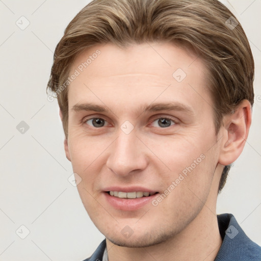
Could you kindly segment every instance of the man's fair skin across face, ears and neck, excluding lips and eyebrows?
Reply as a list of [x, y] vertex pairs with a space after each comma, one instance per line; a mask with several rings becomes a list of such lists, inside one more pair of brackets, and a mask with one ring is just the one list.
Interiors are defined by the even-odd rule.
[[[99, 49], [101, 54], [70, 84], [68, 139], [64, 146], [83, 204], [106, 237], [109, 260], [214, 260], [222, 243], [216, 217], [224, 165], [245, 145], [251, 107], [243, 100], [225, 116], [216, 135], [207, 69], [192, 51], [169, 42], [95, 45], [79, 55], [71, 73]], [[177, 82], [173, 72], [187, 76]], [[74, 111], [92, 102], [106, 112]], [[178, 102], [188, 111], [148, 112], [142, 106]], [[60, 112], [62, 119], [62, 113]], [[159, 119], [171, 117], [162, 127]], [[92, 118], [105, 120], [95, 127]], [[89, 120], [91, 119], [91, 120]], [[134, 129], [126, 134], [128, 120]], [[143, 186], [160, 194], [200, 155], [204, 159], [158, 205], [134, 211], [108, 204], [104, 188]], [[121, 230], [133, 231], [126, 238]]]

